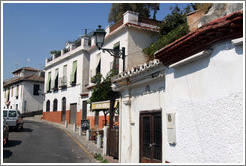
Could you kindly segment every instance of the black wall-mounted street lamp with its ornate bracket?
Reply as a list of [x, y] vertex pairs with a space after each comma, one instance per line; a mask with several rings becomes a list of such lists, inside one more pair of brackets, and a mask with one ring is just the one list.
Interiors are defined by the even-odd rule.
[[98, 29], [96, 29], [96, 31], [93, 33], [98, 50], [102, 50], [103, 52], [107, 51], [111, 56], [115, 58], [122, 58], [123, 71], [125, 71], [125, 47], [122, 47], [122, 49], [102, 48], [105, 35], [106, 35], [106, 32], [104, 31], [104, 29], [101, 29], [101, 25], [99, 25]]

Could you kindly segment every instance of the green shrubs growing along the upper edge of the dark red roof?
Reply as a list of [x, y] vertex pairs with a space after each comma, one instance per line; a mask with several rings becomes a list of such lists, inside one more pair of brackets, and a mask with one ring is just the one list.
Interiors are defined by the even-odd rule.
[[187, 23], [184, 23], [174, 30], [170, 31], [167, 35], [159, 38], [155, 43], [152, 43], [149, 47], [144, 49], [144, 53], [148, 55], [149, 60], [154, 59], [154, 53], [166, 45], [174, 42], [189, 32]]

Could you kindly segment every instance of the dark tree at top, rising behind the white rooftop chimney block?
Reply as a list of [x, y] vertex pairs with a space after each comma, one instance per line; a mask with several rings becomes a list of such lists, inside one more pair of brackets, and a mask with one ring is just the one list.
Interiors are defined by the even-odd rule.
[[158, 3], [113, 3], [108, 16], [109, 23], [116, 23], [122, 18], [126, 11], [133, 11], [139, 13], [139, 16], [149, 18], [150, 10], [154, 10], [153, 17], [155, 18], [157, 10], [159, 10]]

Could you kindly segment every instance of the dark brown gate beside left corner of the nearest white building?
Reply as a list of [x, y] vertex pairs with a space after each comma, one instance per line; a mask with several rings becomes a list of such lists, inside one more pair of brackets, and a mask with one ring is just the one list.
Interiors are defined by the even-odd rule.
[[111, 132], [108, 131], [107, 141], [108, 141], [107, 142], [108, 155], [112, 156], [114, 159], [118, 159], [119, 158], [119, 129], [111, 129]]

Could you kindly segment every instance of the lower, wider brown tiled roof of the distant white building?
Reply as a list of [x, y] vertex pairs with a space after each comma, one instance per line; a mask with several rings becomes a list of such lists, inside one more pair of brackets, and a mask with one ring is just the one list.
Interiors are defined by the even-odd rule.
[[11, 79], [10, 81], [4, 81], [3, 87], [21, 82], [21, 81], [33, 81], [33, 82], [44, 82], [44, 78], [35, 74], [27, 75], [24, 77], [17, 77], [16, 79]]

